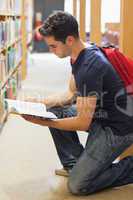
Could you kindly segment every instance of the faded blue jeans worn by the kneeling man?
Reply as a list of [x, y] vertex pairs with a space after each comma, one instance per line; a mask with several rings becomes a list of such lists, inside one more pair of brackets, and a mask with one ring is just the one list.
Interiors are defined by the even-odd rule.
[[[58, 118], [76, 115], [76, 108], [51, 108]], [[133, 183], [133, 156], [112, 163], [133, 143], [133, 134], [114, 135], [110, 127], [94, 122], [89, 128], [85, 148], [75, 131], [49, 128], [58, 156], [65, 168], [71, 168], [68, 188], [75, 195], [88, 195], [109, 187]]]

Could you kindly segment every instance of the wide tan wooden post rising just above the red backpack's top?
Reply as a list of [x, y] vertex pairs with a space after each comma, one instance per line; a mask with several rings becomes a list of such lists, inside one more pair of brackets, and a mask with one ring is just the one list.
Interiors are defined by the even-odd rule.
[[90, 40], [101, 44], [101, 0], [91, 0]]

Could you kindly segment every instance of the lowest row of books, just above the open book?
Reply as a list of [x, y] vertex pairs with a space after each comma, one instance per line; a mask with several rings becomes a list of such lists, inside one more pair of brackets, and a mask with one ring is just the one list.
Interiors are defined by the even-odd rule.
[[21, 86], [21, 69], [12, 76], [7, 81], [5, 87], [0, 91], [0, 119], [7, 111], [7, 104], [5, 103], [5, 98], [16, 99], [17, 91]]

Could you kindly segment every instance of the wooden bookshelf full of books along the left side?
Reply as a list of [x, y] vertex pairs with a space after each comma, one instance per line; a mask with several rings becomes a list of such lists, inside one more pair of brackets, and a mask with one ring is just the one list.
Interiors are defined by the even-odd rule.
[[0, 129], [7, 118], [4, 98], [16, 98], [20, 82], [26, 78], [27, 45], [32, 40], [27, 20], [32, 20], [32, 12], [33, 0], [0, 1]]

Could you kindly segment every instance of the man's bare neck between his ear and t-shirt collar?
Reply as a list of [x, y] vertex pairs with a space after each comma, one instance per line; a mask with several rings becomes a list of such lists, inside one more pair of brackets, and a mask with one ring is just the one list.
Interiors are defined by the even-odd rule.
[[75, 45], [73, 46], [72, 54], [71, 54], [71, 59], [73, 62], [77, 59], [80, 52], [85, 48], [86, 48], [86, 44], [82, 40], [78, 40], [75, 42]]

